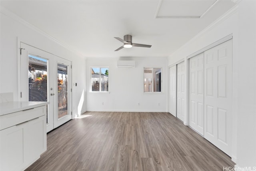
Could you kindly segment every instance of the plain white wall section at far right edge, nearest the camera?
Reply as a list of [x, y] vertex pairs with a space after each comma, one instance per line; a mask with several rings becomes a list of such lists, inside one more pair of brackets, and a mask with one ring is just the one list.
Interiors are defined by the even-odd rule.
[[241, 1], [238, 12], [237, 165], [256, 168], [256, 1]]

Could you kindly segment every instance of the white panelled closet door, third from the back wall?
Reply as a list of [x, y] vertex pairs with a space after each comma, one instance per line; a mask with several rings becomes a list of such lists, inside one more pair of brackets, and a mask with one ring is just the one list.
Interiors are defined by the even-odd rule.
[[204, 53], [189, 59], [189, 125], [204, 135]]

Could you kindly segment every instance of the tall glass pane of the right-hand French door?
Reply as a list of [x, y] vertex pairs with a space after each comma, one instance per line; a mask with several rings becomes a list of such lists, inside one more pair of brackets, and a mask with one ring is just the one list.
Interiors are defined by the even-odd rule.
[[68, 115], [68, 66], [58, 64], [58, 118]]

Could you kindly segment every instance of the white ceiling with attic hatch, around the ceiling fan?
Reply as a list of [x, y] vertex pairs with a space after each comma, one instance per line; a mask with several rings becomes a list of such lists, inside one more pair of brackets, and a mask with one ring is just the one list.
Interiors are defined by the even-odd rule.
[[[167, 57], [235, 5], [231, 0], [1, 0], [0, 3], [89, 58]], [[198, 18], [182, 18], [195, 16]], [[132, 35], [132, 42], [152, 47], [114, 52], [122, 46], [114, 37], [123, 39], [126, 34]]]

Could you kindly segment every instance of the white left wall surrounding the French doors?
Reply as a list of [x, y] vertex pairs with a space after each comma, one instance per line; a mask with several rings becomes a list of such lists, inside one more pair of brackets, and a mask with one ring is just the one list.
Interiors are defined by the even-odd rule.
[[80, 102], [81, 96], [85, 100], [85, 59], [2, 7], [0, 19], [0, 93], [13, 93], [14, 101], [18, 100], [18, 37], [21, 42], [72, 61], [72, 79], [78, 83], [73, 87], [73, 113], [85, 111], [85, 101]]

